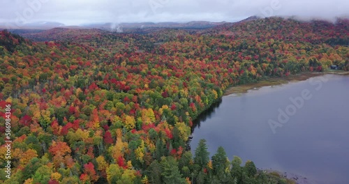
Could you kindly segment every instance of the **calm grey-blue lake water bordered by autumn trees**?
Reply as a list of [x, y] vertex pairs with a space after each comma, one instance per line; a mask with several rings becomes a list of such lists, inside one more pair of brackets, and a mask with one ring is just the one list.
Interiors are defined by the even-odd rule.
[[225, 96], [193, 130], [193, 153], [200, 139], [211, 155], [223, 146], [230, 160], [237, 155], [309, 183], [349, 183], [349, 76]]

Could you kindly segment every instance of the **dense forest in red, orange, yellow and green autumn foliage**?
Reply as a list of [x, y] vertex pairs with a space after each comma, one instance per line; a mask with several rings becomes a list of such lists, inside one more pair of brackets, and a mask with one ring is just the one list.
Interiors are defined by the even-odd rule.
[[223, 148], [209, 158], [205, 140], [192, 155], [193, 121], [230, 86], [349, 70], [348, 20], [22, 36], [0, 31], [1, 183], [290, 183]]

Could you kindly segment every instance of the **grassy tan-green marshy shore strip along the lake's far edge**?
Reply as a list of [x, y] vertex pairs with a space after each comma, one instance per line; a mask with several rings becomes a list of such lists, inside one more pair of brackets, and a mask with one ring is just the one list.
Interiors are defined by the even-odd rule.
[[225, 92], [223, 93], [223, 96], [231, 95], [231, 94], [241, 94], [241, 93], [247, 93], [251, 89], [260, 89], [264, 86], [279, 86], [282, 84], [288, 84], [289, 82], [299, 82], [304, 81], [306, 79], [310, 79], [311, 77], [318, 77], [321, 75], [327, 75], [327, 74], [333, 74], [333, 75], [349, 75], [348, 71], [340, 71], [340, 72], [334, 72], [334, 71], [326, 71], [326, 72], [301, 72], [296, 75], [290, 75], [288, 77], [270, 77], [267, 79], [262, 79], [259, 82], [256, 83], [250, 83], [250, 84], [242, 84], [237, 86], [232, 86], [228, 89], [225, 89]]

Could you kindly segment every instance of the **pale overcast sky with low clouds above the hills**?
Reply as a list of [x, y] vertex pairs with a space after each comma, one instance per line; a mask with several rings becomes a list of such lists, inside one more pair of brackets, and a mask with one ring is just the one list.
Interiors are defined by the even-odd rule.
[[188, 22], [349, 15], [348, 0], [0, 0], [0, 22]]

